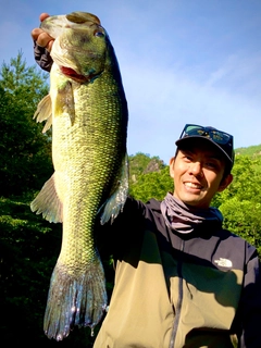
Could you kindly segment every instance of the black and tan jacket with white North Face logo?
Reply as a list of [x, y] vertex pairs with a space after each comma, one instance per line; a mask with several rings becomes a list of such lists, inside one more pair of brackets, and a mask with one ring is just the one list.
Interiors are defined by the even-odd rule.
[[178, 234], [160, 202], [128, 199], [101, 228], [115, 260], [110, 309], [95, 347], [261, 346], [257, 250], [226, 229]]

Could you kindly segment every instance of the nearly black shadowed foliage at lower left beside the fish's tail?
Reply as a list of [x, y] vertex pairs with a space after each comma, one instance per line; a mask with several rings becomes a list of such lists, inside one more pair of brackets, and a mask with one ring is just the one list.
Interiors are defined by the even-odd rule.
[[1, 337], [25, 341], [25, 332], [32, 341], [44, 338], [39, 327], [58, 237], [50, 224], [32, 214], [26, 202], [15, 199], [0, 199], [0, 231]]

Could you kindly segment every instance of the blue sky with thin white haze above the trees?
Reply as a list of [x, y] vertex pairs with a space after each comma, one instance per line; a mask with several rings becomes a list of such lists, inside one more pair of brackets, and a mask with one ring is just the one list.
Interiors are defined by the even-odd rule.
[[261, 144], [260, 0], [0, 0], [0, 63], [35, 64], [39, 14], [85, 11], [110, 35], [128, 101], [128, 153], [165, 163], [186, 123]]

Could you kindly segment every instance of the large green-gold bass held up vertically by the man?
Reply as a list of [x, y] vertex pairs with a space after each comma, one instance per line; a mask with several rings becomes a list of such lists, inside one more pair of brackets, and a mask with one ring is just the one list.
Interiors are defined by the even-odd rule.
[[34, 114], [52, 132], [54, 172], [30, 203], [36, 214], [62, 223], [44, 331], [62, 340], [75, 327], [94, 327], [108, 306], [96, 245], [96, 221], [113, 222], [128, 195], [128, 107], [120, 66], [100, 20], [87, 12], [47, 17], [55, 40], [50, 89]]

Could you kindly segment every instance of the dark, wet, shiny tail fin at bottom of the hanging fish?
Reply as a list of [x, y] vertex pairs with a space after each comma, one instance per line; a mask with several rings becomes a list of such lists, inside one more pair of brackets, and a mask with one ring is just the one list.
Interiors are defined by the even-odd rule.
[[107, 308], [104, 272], [99, 257], [79, 276], [57, 263], [48, 295], [44, 331], [62, 340], [74, 326], [94, 328]]

